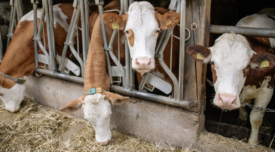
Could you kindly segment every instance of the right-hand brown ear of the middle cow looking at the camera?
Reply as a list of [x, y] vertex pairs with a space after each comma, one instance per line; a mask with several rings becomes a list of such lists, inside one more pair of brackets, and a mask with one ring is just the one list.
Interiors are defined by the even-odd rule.
[[176, 12], [167, 12], [163, 15], [156, 12], [155, 17], [162, 30], [171, 29], [180, 22], [180, 14]]

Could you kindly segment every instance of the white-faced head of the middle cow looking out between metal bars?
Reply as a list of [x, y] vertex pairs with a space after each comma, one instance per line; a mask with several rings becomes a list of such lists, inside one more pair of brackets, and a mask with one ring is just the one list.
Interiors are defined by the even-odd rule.
[[145, 73], [155, 68], [155, 47], [160, 31], [178, 24], [180, 14], [167, 12], [161, 15], [149, 2], [134, 2], [126, 14], [106, 13], [103, 21], [107, 27], [126, 33], [132, 68]]

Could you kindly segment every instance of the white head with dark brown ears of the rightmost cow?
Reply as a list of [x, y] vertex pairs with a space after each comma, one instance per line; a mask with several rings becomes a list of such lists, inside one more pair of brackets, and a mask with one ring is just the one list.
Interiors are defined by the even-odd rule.
[[239, 34], [223, 34], [213, 47], [187, 47], [186, 52], [196, 61], [211, 64], [216, 95], [214, 105], [222, 109], [240, 108], [239, 94], [250, 70], [257, 70], [266, 53], [256, 54], [246, 38]]

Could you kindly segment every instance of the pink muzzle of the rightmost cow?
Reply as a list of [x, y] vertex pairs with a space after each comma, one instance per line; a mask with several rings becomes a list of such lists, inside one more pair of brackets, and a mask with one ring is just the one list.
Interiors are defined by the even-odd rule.
[[222, 109], [233, 110], [239, 108], [238, 96], [226, 93], [218, 93], [216, 105]]

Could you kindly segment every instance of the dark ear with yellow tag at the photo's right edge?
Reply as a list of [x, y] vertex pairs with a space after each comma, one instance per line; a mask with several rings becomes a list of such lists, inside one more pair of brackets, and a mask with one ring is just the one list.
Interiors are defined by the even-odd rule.
[[275, 55], [272, 53], [259, 53], [253, 55], [250, 59], [250, 67], [256, 68], [273, 68], [275, 65]]

